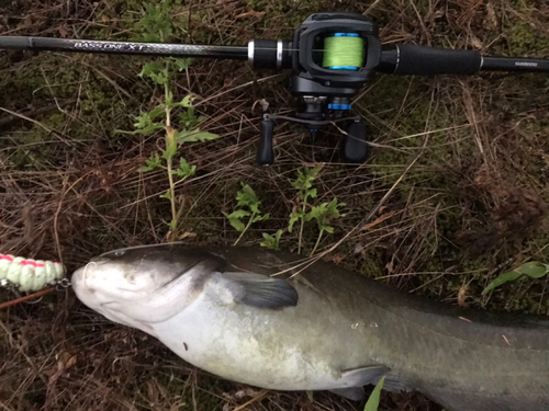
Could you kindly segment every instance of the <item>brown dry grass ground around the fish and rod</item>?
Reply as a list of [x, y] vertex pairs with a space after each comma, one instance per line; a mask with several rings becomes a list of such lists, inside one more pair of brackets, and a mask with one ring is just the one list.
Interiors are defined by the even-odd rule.
[[[149, 0], [158, 4], [157, 0]], [[149, 4], [149, 7], [150, 7]], [[0, 35], [138, 39], [147, 4], [134, 0], [13, 0], [0, 7]], [[3, 7], [3, 9], [2, 9]], [[149, 14], [150, 14], [149, 9]], [[478, 49], [549, 57], [549, 5], [538, 0], [172, 1], [167, 41], [245, 45], [288, 38], [310, 13], [352, 11], [376, 20], [386, 45]], [[147, 23], [154, 24], [154, 23]], [[61, 260], [70, 273], [114, 248], [166, 241], [170, 202], [163, 170], [138, 172], [163, 133], [131, 130], [132, 116], [163, 90], [138, 77], [144, 57], [0, 52], [1, 252]], [[288, 226], [298, 170], [321, 165], [315, 204], [337, 198], [317, 252], [425, 298], [502, 311], [549, 313], [547, 279], [482, 289], [526, 261], [549, 261], [549, 78], [482, 72], [471, 77], [378, 76], [354, 107], [370, 128], [371, 155], [341, 162], [340, 134], [313, 140], [277, 126], [277, 162], [255, 150], [265, 99], [293, 107], [288, 73], [242, 61], [197, 60], [177, 76], [176, 101], [193, 93], [203, 132], [219, 139], [180, 147], [197, 167], [176, 187], [177, 237], [189, 244], [233, 243], [224, 213], [249, 184], [270, 218], [239, 244]], [[379, 208], [376, 208], [378, 207]], [[370, 212], [376, 210], [373, 215]], [[298, 251], [300, 230], [280, 248]], [[303, 230], [302, 253], [318, 230]], [[1, 290], [0, 302], [14, 299]], [[0, 310], [0, 406], [5, 410], [349, 410], [337, 396], [262, 391], [227, 383], [180, 361], [142, 332], [110, 323], [70, 290]], [[417, 395], [384, 393], [383, 410], [437, 410]]]

